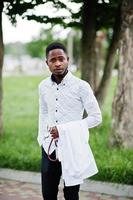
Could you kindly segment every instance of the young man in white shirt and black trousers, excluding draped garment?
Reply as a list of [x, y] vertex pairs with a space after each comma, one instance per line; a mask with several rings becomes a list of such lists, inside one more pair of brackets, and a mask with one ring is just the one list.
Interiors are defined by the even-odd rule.
[[[46, 48], [46, 63], [51, 76], [39, 85], [38, 142], [42, 147], [42, 194], [44, 200], [57, 200], [62, 166], [59, 161], [51, 161], [57, 156], [57, 126], [82, 120], [84, 110], [88, 114], [85, 119], [88, 128], [100, 124], [102, 117], [89, 84], [69, 71], [69, 57], [62, 44], [54, 42]], [[52, 144], [51, 138], [54, 140]], [[78, 200], [79, 188], [80, 184], [66, 186], [64, 183], [65, 200]]]

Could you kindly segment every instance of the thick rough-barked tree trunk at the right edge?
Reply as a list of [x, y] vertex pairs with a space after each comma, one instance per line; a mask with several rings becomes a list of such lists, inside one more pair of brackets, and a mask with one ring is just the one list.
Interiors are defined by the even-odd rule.
[[120, 64], [110, 144], [133, 148], [133, 1], [123, 0], [121, 12]]

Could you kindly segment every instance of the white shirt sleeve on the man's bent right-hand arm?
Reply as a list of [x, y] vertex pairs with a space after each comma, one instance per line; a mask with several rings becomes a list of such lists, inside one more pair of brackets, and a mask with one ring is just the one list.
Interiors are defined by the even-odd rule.
[[84, 109], [88, 114], [84, 119], [88, 124], [88, 128], [93, 128], [99, 125], [102, 122], [101, 111], [93, 91], [87, 82], [82, 81], [79, 87], [79, 94]]

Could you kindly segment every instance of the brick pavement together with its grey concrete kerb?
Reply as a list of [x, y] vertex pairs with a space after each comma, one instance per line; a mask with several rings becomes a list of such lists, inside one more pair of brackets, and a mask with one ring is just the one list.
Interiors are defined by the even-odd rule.
[[[58, 200], [64, 200], [62, 182]], [[42, 200], [40, 173], [0, 168], [0, 200]], [[80, 200], [131, 200], [133, 186], [86, 180]]]

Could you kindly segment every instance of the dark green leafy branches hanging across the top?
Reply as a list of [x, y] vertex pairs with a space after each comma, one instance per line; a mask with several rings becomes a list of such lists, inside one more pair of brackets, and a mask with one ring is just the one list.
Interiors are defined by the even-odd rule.
[[[35, 20], [40, 23], [51, 23], [53, 25], [55, 24], [61, 24], [64, 27], [78, 27], [81, 29], [82, 27], [82, 9], [84, 2], [82, 0], [68, 0], [68, 3], [65, 3], [63, 1], [51, 1], [51, 0], [34, 0], [34, 1], [24, 1], [21, 0], [11, 0], [11, 1], [4, 1], [8, 2], [5, 6], [5, 13], [9, 16], [12, 23], [16, 23], [16, 16], [22, 16], [24, 18], [27, 18], [28, 20]], [[66, 16], [65, 12], [62, 16], [54, 16], [51, 17], [48, 15], [35, 15], [34, 12], [32, 14], [27, 14], [28, 10], [33, 11], [33, 9], [40, 5], [47, 5], [48, 3], [51, 4], [52, 7], [54, 7], [57, 12], [59, 10], [66, 10], [69, 12], [70, 16]], [[73, 5], [80, 5], [79, 9], [75, 12], [72, 9], [71, 4]], [[104, 1], [96, 1], [96, 29], [99, 30], [101, 28], [109, 28], [112, 27], [115, 20], [115, 15], [117, 12], [117, 7], [120, 3], [119, 1], [110, 0], [109, 3], [105, 3]], [[91, 6], [91, 3], [90, 3]], [[25, 15], [24, 15], [25, 13]], [[63, 12], [62, 12], [63, 13]], [[108, 13], [108, 15], [106, 14]], [[87, 17], [87, 16], [86, 16]]]

